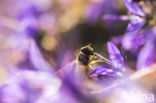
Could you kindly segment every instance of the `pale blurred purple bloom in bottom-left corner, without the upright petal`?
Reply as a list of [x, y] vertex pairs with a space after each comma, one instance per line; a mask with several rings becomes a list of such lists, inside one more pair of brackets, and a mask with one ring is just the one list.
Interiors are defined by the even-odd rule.
[[[61, 89], [61, 80], [47, 72], [20, 71], [0, 89], [1, 103], [77, 103]], [[61, 89], [61, 90], [60, 90]]]

